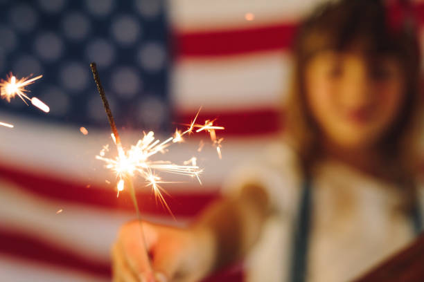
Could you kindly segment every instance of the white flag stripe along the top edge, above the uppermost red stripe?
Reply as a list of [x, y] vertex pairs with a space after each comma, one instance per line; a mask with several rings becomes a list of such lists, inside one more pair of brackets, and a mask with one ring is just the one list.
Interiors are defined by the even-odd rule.
[[[295, 21], [323, 0], [173, 0], [170, 17], [180, 32], [222, 30]], [[247, 21], [246, 13], [254, 20]]]

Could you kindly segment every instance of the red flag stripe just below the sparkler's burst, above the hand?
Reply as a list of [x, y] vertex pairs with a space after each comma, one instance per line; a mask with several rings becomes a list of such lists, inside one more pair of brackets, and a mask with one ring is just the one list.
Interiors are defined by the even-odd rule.
[[[91, 207], [134, 210], [130, 194], [124, 191], [119, 195], [119, 198], [116, 198], [116, 191], [111, 186], [105, 188], [91, 185], [87, 188], [85, 185], [71, 180], [10, 168], [1, 164], [0, 176], [10, 180], [10, 182], [15, 182], [21, 189], [44, 198], [84, 204]], [[173, 193], [171, 196], [164, 194], [164, 198], [175, 216], [194, 216], [211, 201], [219, 198], [218, 192], [210, 191], [218, 191], [218, 189], [209, 190], [208, 192]], [[143, 213], [168, 215], [166, 209], [161, 207], [161, 205], [157, 205], [154, 196], [150, 192], [137, 192], [136, 198]]]

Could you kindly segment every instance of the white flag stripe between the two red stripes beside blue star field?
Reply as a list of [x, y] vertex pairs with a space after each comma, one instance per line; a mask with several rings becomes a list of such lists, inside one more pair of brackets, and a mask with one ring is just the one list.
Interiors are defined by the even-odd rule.
[[290, 56], [282, 51], [220, 59], [181, 59], [173, 72], [179, 111], [279, 107], [290, 82]]

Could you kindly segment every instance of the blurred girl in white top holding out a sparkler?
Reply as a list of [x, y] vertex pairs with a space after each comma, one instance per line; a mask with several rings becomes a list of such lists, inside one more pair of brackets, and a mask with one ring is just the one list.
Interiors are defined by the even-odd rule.
[[248, 281], [348, 281], [421, 230], [420, 58], [411, 25], [378, 0], [332, 1], [294, 44], [288, 133], [234, 173], [188, 229], [121, 228], [114, 281], [198, 281], [247, 256]]

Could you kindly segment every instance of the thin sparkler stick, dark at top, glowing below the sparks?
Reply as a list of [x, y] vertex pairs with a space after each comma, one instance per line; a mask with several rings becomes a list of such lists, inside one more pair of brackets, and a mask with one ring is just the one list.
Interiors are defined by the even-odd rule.
[[[93, 73], [94, 81], [96, 82], [98, 93], [100, 94], [100, 97], [101, 97], [102, 102], [103, 102], [103, 106], [105, 107], [105, 111], [106, 111], [106, 114], [107, 114], [107, 120], [109, 120], [110, 128], [112, 129], [112, 134], [113, 134], [112, 136], [114, 137], [114, 142], [115, 142], [116, 147], [118, 149], [118, 156], [119, 156], [119, 158], [123, 158], [124, 157], [124, 151], [123, 151], [123, 148], [122, 148], [121, 138], [119, 137], [118, 129], [116, 129], [114, 116], [112, 115], [112, 111], [109, 107], [109, 103], [107, 102], [107, 98], [106, 98], [106, 95], [105, 95], [105, 89], [103, 88], [103, 86], [100, 82], [100, 77], [99, 77], [98, 72], [97, 72], [96, 63], [92, 62], [90, 64], [90, 68], [91, 68], [91, 72]], [[142, 236], [143, 243], [144, 243], [143, 256], [145, 256], [145, 258], [144, 258], [145, 261], [148, 261], [148, 263], [149, 263], [149, 265], [148, 265], [149, 273], [147, 273], [147, 275], [153, 276], [152, 265], [150, 263], [150, 259], [149, 259], [149, 255], [148, 255], [148, 246], [147, 246], [147, 242], [145, 241], [143, 224], [141, 223], [141, 213], [140, 213], [140, 210], [139, 210], [139, 205], [137, 203], [134, 186], [132, 185], [132, 178], [130, 177], [130, 173], [128, 173], [126, 171], [125, 171], [125, 173], [123, 173], [123, 178], [125, 178], [125, 180], [127, 180], [126, 181], [127, 186], [130, 187], [130, 195], [131, 195], [131, 198], [132, 198], [132, 202], [134, 203], [134, 207], [136, 209], [137, 218], [139, 219], [139, 223], [140, 223], [141, 236]], [[119, 193], [119, 191], [123, 190], [123, 183], [124, 183], [123, 178], [121, 178], [121, 180], [118, 183], [118, 193]]]

